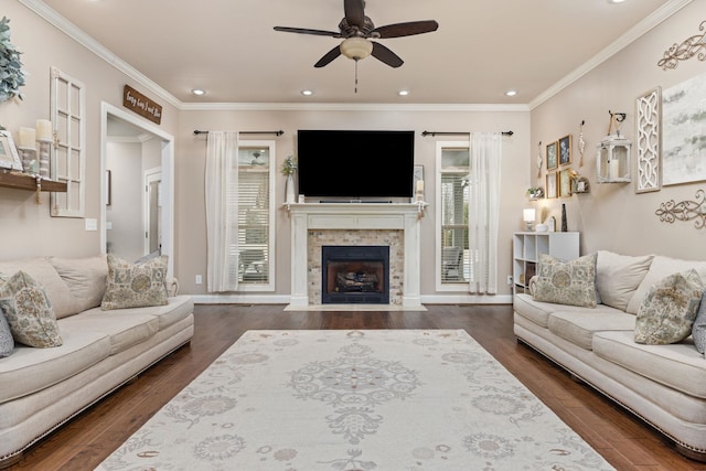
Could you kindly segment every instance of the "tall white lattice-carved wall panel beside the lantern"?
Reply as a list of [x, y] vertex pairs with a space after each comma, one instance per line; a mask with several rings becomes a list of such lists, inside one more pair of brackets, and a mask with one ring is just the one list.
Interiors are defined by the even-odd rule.
[[635, 100], [638, 115], [638, 180], [635, 193], [657, 191], [662, 186], [660, 132], [662, 128], [662, 88], [656, 87]]

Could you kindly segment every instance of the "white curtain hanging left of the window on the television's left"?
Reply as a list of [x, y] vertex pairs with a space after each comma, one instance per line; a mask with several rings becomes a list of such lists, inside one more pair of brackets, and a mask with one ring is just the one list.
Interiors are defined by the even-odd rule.
[[210, 131], [206, 143], [206, 287], [208, 292], [234, 291], [237, 276], [238, 133]]

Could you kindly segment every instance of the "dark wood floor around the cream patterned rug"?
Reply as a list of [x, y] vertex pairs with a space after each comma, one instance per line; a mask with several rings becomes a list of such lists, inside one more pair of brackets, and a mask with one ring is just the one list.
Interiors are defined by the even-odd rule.
[[247, 330], [464, 329], [618, 470], [706, 470], [706, 464], [678, 454], [652, 428], [517, 343], [510, 306], [427, 308], [428, 312], [284, 312], [284, 306], [196, 306], [191, 345], [50, 435], [10, 469], [93, 470]]

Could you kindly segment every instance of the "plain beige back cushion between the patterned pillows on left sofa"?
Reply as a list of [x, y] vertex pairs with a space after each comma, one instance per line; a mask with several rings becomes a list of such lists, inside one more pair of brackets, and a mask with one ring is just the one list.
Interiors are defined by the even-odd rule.
[[74, 313], [100, 306], [108, 277], [105, 255], [85, 258], [50, 257], [49, 261], [71, 291], [71, 309]]

